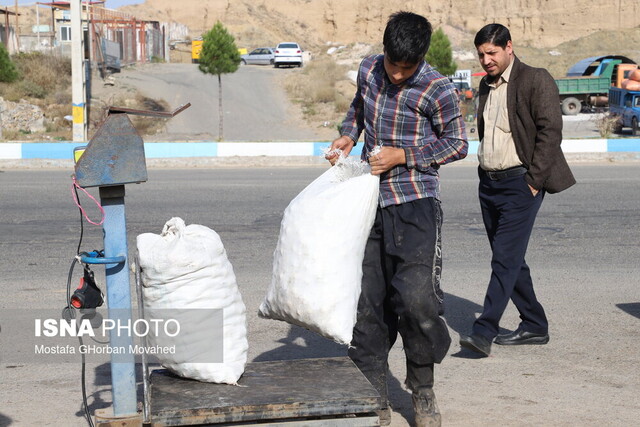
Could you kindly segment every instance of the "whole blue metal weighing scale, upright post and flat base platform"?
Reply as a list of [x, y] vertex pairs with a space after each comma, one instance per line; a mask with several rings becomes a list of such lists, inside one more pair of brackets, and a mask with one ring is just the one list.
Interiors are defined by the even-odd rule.
[[[79, 184], [100, 187], [103, 206], [111, 208], [104, 226], [106, 258], [83, 258], [86, 263], [107, 265], [110, 310], [131, 309], [124, 185], [147, 180], [143, 141], [127, 115], [169, 118], [189, 105], [168, 113], [111, 107], [108, 119], [77, 161]], [[140, 286], [136, 268], [139, 310], [143, 307]], [[132, 358], [117, 362], [111, 363], [113, 410], [96, 411], [99, 427], [379, 425], [375, 411], [381, 407], [380, 396], [347, 357], [248, 363], [239, 385], [233, 386], [189, 380], [164, 369], [149, 375], [143, 356], [143, 414], [136, 411], [135, 363]]]

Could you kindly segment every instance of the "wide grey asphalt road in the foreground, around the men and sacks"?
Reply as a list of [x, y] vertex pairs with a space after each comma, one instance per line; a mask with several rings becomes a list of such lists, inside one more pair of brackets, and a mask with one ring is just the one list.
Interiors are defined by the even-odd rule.
[[[137, 234], [160, 232], [172, 216], [209, 226], [227, 248], [248, 307], [250, 360], [344, 355], [344, 348], [323, 338], [256, 315], [270, 282], [282, 212], [323, 170], [318, 166], [150, 170], [147, 183], [127, 187], [130, 250]], [[444, 425], [637, 423], [640, 164], [579, 164], [574, 170], [579, 184], [545, 200], [528, 256], [550, 318], [550, 344], [495, 346], [491, 357], [475, 359], [461, 351], [457, 338], [469, 331], [479, 312], [489, 276], [488, 245], [475, 194], [477, 178], [471, 164], [443, 168], [443, 286], [454, 339], [436, 373]], [[0, 324], [16, 308], [57, 310], [64, 305], [67, 270], [79, 237], [69, 175], [68, 171], [0, 172]], [[85, 206], [89, 208], [88, 201]], [[90, 214], [95, 216], [95, 210]], [[83, 249], [101, 247], [99, 228], [87, 226]], [[510, 309], [504, 327], [516, 324], [517, 314]], [[21, 339], [0, 333], [0, 355]], [[412, 418], [409, 394], [401, 386], [403, 356], [398, 343], [390, 359], [397, 426]], [[0, 359], [0, 425], [85, 425], [79, 369], [77, 363]], [[109, 375], [108, 364], [88, 366], [92, 411], [110, 406]]]

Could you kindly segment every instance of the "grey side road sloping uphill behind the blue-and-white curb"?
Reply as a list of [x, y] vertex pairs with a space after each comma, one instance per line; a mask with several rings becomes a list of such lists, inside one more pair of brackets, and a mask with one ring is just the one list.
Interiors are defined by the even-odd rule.
[[[314, 141], [317, 130], [304, 126], [280, 79], [299, 72], [269, 66], [241, 66], [222, 75], [223, 139], [225, 141]], [[113, 76], [116, 87], [137, 88], [173, 109], [191, 103], [168, 120], [166, 132], [146, 140], [218, 140], [218, 78], [195, 64], [146, 64]], [[107, 88], [108, 89], [108, 88]], [[97, 88], [103, 97], [105, 88]], [[324, 139], [322, 139], [324, 140]]]

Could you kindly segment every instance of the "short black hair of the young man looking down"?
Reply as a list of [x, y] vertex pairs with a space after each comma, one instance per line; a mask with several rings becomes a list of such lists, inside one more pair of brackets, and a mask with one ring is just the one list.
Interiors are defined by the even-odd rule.
[[389, 17], [384, 30], [384, 54], [391, 62], [417, 64], [429, 50], [431, 32], [431, 24], [425, 17], [396, 12]]

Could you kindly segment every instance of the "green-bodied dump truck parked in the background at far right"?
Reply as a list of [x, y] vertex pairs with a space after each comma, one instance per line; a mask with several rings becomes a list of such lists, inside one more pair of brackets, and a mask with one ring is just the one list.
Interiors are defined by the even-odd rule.
[[582, 110], [606, 108], [609, 88], [620, 87], [637, 68], [633, 60], [619, 55], [593, 56], [577, 62], [567, 77], [556, 79], [562, 114], [572, 116]]

